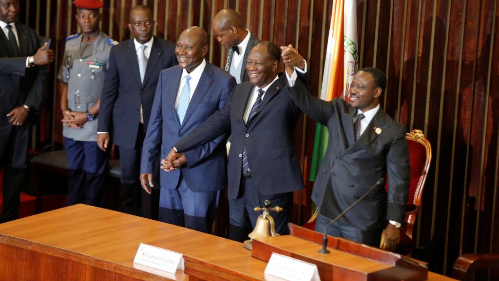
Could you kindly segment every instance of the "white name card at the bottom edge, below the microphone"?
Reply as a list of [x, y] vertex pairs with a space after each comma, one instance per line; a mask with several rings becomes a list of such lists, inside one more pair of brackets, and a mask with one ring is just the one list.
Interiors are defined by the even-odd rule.
[[272, 253], [265, 274], [289, 281], [320, 281], [317, 266]]

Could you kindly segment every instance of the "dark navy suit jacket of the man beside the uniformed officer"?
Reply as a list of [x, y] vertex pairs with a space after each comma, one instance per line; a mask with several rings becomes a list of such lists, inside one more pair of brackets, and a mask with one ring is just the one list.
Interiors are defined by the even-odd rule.
[[175, 44], [154, 36], [144, 82], [140, 81], [134, 39], [111, 48], [102, 89], [98, 132], [112, 132], [113, 142], [134, 148], [139, 131], [140, 105], [147, 130], [161, 70], [178, 64]]

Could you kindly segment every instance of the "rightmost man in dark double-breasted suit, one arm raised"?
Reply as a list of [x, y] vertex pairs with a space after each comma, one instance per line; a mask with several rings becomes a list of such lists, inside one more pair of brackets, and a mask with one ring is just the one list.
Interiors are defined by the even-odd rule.
[[[288, 74], [292, 66], [286, 65]], [[404, 222], [410, 161], [405, 126], [379, 106], [385, 88], [383, 72], [364, 68], [353, 80], [350, 104], [341, 98], [320, 100], [308, 94], [300, 82], [291, 88], [291, 98], [303, 113], [329, 130], [327, 150], [312, 193], [319, 210], [315, 230], [324, 233], [332, 219], [379, 178], [387, 177], [388, 193], [384, 186], [378, 186], [332, 224], [327, 233], [378, 247], [386, 228], [387, 249], [394, 250], [400, 240], [397, 228]]]

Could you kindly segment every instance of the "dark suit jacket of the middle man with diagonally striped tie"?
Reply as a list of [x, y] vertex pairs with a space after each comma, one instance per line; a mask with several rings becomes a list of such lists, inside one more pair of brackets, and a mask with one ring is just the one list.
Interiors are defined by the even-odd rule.
[[300, 111], [289, 97], [286, 83], [285, 75], [281, 75], [267, 89], [260, 110], [249, 126], [243, 121], [243, 115], [254, 86], [250, 82], [238, 84], [222, 110], [174, 145], [178, 151], [188, 153], [193, 147], [232, 132], [229, 199], [237, 198], [239, 193], [245, 145], [251, 178], [258, 192], [270, 195], [303, 188], [293, 136]]

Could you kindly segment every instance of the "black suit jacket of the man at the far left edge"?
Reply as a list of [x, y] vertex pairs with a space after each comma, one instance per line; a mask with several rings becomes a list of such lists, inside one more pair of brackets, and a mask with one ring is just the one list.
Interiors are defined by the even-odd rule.
[[[11, 132], [12, 125], [5, 116], [7, 113], [23, 104], [31, 107], [31, 112], [14, 140], [16, 145], [12, 166], [23, 167], [26, 161], [29, 128], [37, 122], [37, 113], [42, 106], [47, 68], [45, 66], [26, 68], [26, 57], [36, 53], [40, 41], [36, 32], [26, 25], [16, 22], [15, 28], [19, 39], [20, 57], [13, 57], [9, 53], [8, 39], [3, 30], [0, 31], [0, 134], [8, 136]], [[0, 154], [3, 150], [3, 147], [0, 147]]]

